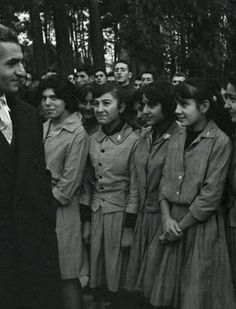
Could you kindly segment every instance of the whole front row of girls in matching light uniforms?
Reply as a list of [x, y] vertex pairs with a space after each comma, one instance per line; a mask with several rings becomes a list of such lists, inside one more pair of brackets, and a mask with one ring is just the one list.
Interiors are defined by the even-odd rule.
[[88, 278], [95, 308], [236, 308], [236, 143], [214, 121], [236, 123], [235, 74], [226, 90], [143, 87], [140, 134], [117, 85], [42, 81], [64, 308]]

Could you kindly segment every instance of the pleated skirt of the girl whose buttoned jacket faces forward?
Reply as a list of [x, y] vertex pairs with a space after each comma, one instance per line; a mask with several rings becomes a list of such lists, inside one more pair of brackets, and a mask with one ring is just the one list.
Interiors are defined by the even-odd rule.
[[117, 292], [124, 286], [128, 254], [122, 249], [124, 212], [104, 214], [99, 208], [92, 214], [90, 287], [106, 287]]

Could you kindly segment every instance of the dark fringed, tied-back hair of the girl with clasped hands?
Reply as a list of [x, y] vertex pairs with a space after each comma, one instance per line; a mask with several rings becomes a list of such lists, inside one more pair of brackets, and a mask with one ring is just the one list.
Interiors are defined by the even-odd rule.
[[224, 108], [219, 84], [215, 80], [188, 78], [173, 88], [173, 94], [176, 101], [183, 102], [187, 99], [194, 99], [198, 106], [206, 100], [209, 101], [210, 108], [207, 116], [213, 119], [222, 131], [231, 135], [230, 118]]

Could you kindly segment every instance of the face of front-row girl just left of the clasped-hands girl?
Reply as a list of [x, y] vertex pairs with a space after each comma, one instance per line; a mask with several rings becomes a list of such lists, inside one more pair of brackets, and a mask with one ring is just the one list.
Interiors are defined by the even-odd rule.
[[158, 125], [165, 120], [161, 103], [152, 104], [145, 94], [143, 94], [142, 103], [144, 106], [143, 117], [148, 126]]

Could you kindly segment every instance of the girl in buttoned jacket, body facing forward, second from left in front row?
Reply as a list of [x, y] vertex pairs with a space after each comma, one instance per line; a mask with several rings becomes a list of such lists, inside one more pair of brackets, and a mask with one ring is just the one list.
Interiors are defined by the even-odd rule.
[[129, 223], [138, 212], [133, 165], [138, 136], [123, 120], [125, 104], [116, 85], [97, 86], [93, 97], [100, 127], [91, 136], [89, 150], [94, 169], [90, 286], [108, 290], [116, 302], [133, 233]]

